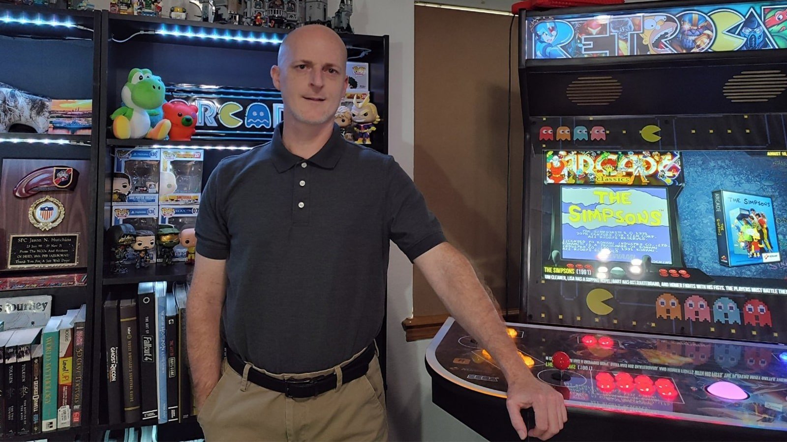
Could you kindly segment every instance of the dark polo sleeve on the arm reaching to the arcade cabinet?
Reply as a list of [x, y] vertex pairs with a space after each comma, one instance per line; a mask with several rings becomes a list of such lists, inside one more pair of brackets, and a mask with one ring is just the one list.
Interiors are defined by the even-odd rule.
[[387, 164], [386, 219], [388, 236], [410, 262], [445, 242], [442, 226], [409, 175], [390, 158]]

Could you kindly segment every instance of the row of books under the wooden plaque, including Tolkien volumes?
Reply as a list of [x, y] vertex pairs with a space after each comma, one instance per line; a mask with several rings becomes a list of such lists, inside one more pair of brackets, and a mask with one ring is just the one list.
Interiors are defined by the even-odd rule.
[[46, 326], [0, 332], [3, 436], [83, 425], [86, 306]]

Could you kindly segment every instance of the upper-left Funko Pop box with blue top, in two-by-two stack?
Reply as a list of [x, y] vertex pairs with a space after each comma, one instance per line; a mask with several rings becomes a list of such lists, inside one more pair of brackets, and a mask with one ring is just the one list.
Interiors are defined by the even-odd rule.
[[158, 204], [161, 149], [115, 149], [112, 202]]

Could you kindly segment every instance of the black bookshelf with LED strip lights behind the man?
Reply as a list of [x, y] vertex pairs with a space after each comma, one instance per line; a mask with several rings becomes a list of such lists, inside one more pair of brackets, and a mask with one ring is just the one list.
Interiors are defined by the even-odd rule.
[[[102, 357], [102, 304], [107, 299], [135, 297], [139, 282], [183, 282], [194, 267], [185, 263], [165, 266], [150, 263], [141, 269], [127, 265], [127, 273], [109, 271], [105, 230], [111, 219], [113, 150], [117, 147], [168, 147], [204, 149], [203, 186], [224, 157], [263, 144], [260, 141], [194, 139], [190, 142], [120, 140], [113, 137], [109, 114], [120, 104], [120, 88], [130, 68], [150, 68], [165, 83], [216, 84], [231, 87], [272, 88], [267, 72], [275, 64], [279, 42], [288, 31], [237, 25], [203, 23], [168, 18], [122, 16], [108, 11], [72, 11], [32, 6], [0, 5], [0, 82], [51, 98], [92, 98], [91, 134], [0, 133], [0, 170], [9, 158], [90, 160], [90, 170], [79, 179], [90, 186], [86, 216], [87, 263], [84, 268], [0, 272], [6, 276], [31, 274], [86, 274], [86, 284], [0, 292], [2, 297], [51, 294], [53, 315], [87, 304], [85, 366], [83, 374], [83, 425], [78, 428], [15, 436], [6, 440], [102, 440], [105, 432], [122, 436], [127, 428], [150, 422], [109, 424], [106, 416], [105, 360]], [[246, 41], [231, 38], [240, 36]], [[370, 66], [369, 89], [382, 121], [372, 148], [388, 152], [388, 53], [387, 35], [342, 35], [350, 61]], [[14, 46], [16, 45], [16, 46]], [[6, 50], [11, 48], [11, 50]], [[199, 57], [194, 57], [198, 51]], [[57, 72], [53, 66], [59, 69]], [[264, 74], [260, 74], [263, 72]], [[81, 172], [81, 171], [80, 171]], [[98, 259], [97, 259], [98, 258]], [[379, 337], [381, 362], [385, 334]], [[384, 366], [384, 362], [382, 363]], [[201, 438], [194, 417], [158, 425], [159, 440]]]

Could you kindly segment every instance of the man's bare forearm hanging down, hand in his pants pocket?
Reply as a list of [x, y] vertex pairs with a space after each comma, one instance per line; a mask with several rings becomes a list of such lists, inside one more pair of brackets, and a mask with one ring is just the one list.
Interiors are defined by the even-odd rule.
[[216, 386], [221, 374], [221, 304], [216, 305], [198, 293], [193, 293], [187, 298], [187, 315], [189, 365], [194, 397], [199, 407]]

